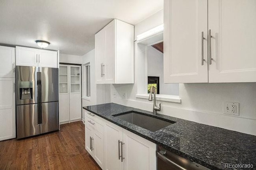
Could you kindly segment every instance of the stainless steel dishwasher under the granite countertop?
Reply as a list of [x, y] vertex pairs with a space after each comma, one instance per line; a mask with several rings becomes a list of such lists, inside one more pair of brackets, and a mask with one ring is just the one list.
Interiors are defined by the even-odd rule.
[[157, 170], [210, 170], [157, 146]]

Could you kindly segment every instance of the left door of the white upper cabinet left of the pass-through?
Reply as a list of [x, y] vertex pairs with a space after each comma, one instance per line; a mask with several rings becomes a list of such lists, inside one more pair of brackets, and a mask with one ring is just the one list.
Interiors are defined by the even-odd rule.
[[105, 58], [105, 31], [104, 29], [95, 35], [95, 80], [96, 84], [104, 84], [103, 68]]

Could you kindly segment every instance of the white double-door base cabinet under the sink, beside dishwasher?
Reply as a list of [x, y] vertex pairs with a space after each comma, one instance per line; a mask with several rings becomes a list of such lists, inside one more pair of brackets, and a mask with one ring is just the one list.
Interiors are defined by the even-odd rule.
[[156, 170], [156, 144], [104, 120], [105, 170]]

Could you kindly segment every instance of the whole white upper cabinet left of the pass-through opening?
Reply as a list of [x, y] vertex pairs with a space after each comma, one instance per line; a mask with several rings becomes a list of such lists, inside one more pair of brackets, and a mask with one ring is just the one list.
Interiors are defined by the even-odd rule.
[[134, 25], [113, 20], [95, 35], [96, 84], [134, 83]]

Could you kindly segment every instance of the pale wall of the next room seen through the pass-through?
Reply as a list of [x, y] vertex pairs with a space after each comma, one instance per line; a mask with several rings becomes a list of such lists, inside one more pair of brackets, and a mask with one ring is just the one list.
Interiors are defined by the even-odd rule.
[[179, 95], [179, 84], [164, 83], [164, 54], [154, 47], [147, 47], [148, 76], [158, 76], [160, 94]]

